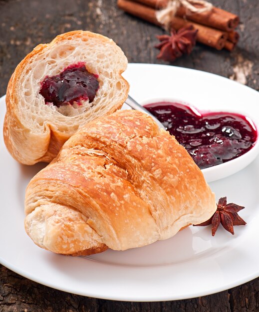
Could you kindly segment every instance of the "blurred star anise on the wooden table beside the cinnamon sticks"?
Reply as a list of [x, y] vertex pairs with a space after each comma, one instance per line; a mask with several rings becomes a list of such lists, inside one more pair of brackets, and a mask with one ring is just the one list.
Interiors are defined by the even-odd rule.
[[157, 36], [160, 43], [155, 48], [160, 50], [158, 59], [173, 62], [183, 54], [190, 54], [196, 43], [197, 29], [192, 25], [180, 28], [178, 31], [172, 28], [170, 35]]

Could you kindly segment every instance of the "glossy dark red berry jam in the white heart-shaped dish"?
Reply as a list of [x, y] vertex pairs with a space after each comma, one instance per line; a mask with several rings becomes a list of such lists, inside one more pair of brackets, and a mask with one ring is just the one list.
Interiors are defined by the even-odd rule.
[[170, 102], [147, 104], [145, 108], [175, 136], [201, 169], [247, 153], [257, 140], [255, 127], [239, 114], [198, 115], [191, 107]]

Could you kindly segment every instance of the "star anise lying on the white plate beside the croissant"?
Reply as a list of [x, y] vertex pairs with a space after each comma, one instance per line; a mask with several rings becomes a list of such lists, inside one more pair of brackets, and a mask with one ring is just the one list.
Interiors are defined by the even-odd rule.
[[234, 225], [247, 224], [247, 222], [238, 215], [238, 212], [244, 208], [245, 207], [234, 203], [227, 204], [227, 197], [222, 197], [219, 199], [217, 210], [214, 215], [209, 220], [196, 224], [195, 226], [206, 226], [212, 224], [212, 236], [214, 236], [221, 223], [225, 230], [234, 235]]

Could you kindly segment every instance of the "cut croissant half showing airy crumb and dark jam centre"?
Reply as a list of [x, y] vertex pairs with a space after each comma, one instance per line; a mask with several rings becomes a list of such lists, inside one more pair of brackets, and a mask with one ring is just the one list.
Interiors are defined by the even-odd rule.
[[83, 124], [119, 109], [129, 89], [121, 76], [126, 67], [111, 39], [89, 31], [36, 46], [7, 87], [3, 135], [11, 156], [50, 162]]

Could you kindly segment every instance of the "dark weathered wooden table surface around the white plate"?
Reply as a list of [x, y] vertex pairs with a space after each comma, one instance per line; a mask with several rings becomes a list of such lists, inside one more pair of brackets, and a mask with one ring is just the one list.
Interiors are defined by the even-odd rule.
[[[238, 47], [229, 53], [197, 44], [190, 56], [178, 59], [174, 65], [219, 74], [259, 90], [259, 1], [212, 2], [241, 17]], [[0, 0], [0, 96], [5, 94], [18, 62], [34, 46], [75, 29], [111, 37], [129, 62], [163, 63], [156, 59], [157, 50], [153, 47], [157, 42], [155, 35], [163, 30], [123, 13], [116, 0]], [[259, 311], [259, 278], [195, 299], [132, 303], [64, 293], [0, 266], [0, 311]]]

